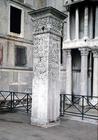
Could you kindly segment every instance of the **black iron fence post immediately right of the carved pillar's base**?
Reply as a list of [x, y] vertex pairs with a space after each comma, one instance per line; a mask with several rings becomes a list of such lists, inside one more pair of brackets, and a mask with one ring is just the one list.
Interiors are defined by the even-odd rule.
[[64, 116], [65, 95], [60, 94], [60, 116]]

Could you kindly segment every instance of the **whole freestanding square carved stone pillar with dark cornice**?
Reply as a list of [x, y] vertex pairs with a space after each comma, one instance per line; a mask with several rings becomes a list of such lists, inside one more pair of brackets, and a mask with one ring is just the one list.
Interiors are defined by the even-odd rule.
[[33, 81], [31, 124], [47, 126], [59, 119], [60, 40], [65, 15], [48, 7], [33, 17]]

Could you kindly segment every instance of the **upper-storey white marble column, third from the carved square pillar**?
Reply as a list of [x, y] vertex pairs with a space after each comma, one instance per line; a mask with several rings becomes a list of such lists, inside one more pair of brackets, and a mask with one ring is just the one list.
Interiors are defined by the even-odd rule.
[[88, 7], [84, 9], [84, 38], [88, 38]]

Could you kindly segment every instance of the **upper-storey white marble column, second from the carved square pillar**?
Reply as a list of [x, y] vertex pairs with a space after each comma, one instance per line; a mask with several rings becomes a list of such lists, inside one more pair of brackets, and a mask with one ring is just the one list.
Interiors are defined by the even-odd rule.
[[75, 16], [75, 39], [78, 40], [79, 39], [79, 9], [76, 9], [76, 16]]

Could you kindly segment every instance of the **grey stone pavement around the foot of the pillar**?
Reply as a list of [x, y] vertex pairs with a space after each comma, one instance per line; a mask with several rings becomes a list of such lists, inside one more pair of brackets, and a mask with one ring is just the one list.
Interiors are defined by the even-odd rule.
[[0, 114], [0, 140], [98, 140], [98, 126], [62, 119], [59, 125], [41, 128], [30, 125], [25, 113]]

